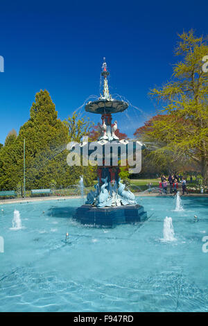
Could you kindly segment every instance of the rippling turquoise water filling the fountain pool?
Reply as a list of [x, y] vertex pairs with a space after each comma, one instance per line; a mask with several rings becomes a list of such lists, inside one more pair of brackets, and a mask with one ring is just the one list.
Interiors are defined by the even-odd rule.
[[[80, 199], [0, 205], [0, 311], [208, 311], [208, 198], [182, 198], [182, 212], [170, 197], [137, 200], [148, 221], [114, 229], [69, 218]], [[162, 241], [166, 216], [176, 241]]]

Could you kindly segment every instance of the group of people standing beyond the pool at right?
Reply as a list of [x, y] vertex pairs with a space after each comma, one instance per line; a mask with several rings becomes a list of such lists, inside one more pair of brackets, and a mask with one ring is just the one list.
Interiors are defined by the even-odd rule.
[[159, 192], [160, 194], [168, 194], [168, 183], [170, 186], [170, 194], [177, 194], [177, 188], [178, 188], [178, 182], [182, 182], [182, 193], [187, 191], [187, 181], [182, 175], [171, 175], [171, 173], [168, 175], [168, 178], [165, 177], [165, 175], [161, 176], [161, 181], [159, 182]]

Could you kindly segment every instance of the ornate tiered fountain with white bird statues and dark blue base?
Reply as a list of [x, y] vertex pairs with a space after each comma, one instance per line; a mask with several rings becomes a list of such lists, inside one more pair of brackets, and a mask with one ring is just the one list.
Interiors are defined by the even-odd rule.
[[[129, 141], [119, 139], [116, 136], [117, 122], [114, 121], [114, 124], [112, 124], [112, 114], [126, 110], [128, 103], [114, 100], [110, 95], [107, 84], [109, 71], [107, 71], [105, 58], [101, 76], [104, 79], [103, 95], [101, 95], [98, 101], [88, 102], [85, 110], [101, 114], [102, 123], [98, 123], [98, 131], [100, 132], [100, 137], [98, 138], [99, 145], [104, 147], [113, 144], [118, 146], [118, 148], [119, 146], [125, 146], [125, 151], [127, 151]], [[80, 146], [83, 150], [83, 147], [88, 145], [83, 143]], [[102, 225], [105, 227], [145, 221], [147, 214], [144, 212], [144, 208], [137, 204], [135, 195], [129, 189], [126, 190], [125, 185], [121, 183], [119, 166], [114, 165], [112, 159], [108, 162], [110, 164], [106, 165], [105, 160], [103, 160], [103, 165], [98, 166], [98, 183], [95, 186], [95, 191], [90, 191], [87, 194], [85, 205], [76, 209], [76, 214], [73, 217], [83, 224]]]

